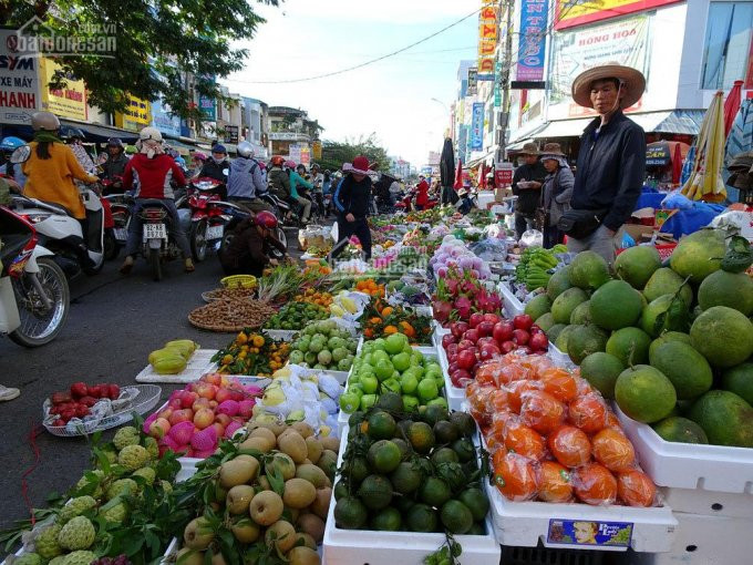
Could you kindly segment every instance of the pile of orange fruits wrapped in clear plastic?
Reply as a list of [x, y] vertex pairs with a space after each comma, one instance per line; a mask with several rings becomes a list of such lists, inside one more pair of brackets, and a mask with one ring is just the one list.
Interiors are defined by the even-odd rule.
[[488, 361], [465, 389], [510, 501], [652, 506], [656, 485], [598, 390], [546, 357]]

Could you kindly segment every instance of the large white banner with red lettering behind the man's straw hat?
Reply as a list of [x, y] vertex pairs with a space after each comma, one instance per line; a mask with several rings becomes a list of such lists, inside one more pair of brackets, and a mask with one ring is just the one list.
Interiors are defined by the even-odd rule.
[[[553, 49], [550, 104], [566, 105], [565, 115], [591, 115], [573, 102], [570, 88], [575, 78], [587, 69], [606, 63], [632, 66], [648, 78], [650, 56], [650, 19], [637, 16], [613, 23], [565, 31], [555, 34]], [[640, 102], [639, 102], [640, 103]], [[550, 106], [551, 109], [551, 106]], [[561, 113], [561, 112], [560, 112]]]

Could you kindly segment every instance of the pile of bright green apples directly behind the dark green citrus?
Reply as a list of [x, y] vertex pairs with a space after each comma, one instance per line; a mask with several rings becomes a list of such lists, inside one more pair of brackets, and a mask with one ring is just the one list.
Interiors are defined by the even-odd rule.
[[405, 335], [393, 333], [363, 342], [340, 397], [340, 409], [348, 414], [369, 410], [383, 392], [400, 394], [400, 410], [405, 412], [434, 404], [446, 409], [443, 388], [444, 376], [436, 359], [412, 348]]

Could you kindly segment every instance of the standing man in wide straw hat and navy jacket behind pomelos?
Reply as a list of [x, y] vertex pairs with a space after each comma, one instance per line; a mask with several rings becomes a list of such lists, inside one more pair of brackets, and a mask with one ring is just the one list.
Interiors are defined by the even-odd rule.
[[590, 249], [615, 259], [618, 233], [640, 196], [646, 172], [646, 135], [622, 110], [638, 102], [646, 78], [629, 66], [607, 64], [580, 73], [573, 82], [573, 100], [598, 115], [580, 137], [577, 175], [559, 227], [568, 249]]

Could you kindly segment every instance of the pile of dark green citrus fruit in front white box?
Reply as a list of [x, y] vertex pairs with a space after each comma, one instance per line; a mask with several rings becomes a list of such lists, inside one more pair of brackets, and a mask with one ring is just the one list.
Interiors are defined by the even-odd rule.
[[473, 419], [430, 405], [394, 411], [395, 393], [350, 418], [334, 485], [334, 520], [345, 530], [485, 534], [489, 503], [472, 436]]

